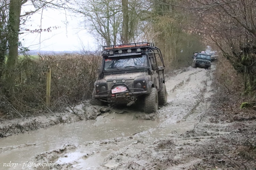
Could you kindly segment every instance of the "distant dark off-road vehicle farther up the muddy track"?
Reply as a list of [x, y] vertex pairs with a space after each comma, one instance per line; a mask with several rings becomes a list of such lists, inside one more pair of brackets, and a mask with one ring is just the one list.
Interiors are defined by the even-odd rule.
[[193, 68], [202, 67], [208, 70], [211, 70], [212, 59], [210, 54], [206, 53], [197, 53], [196, 57], [193, 60]]

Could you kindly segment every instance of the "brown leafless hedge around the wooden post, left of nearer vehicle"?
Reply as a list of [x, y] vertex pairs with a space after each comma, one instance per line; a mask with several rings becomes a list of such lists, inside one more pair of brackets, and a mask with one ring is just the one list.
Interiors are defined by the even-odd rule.
[[[0, 112], [5, 118], [42, 115], [60, 111], [91, 97], [99, 54], [44, 55], [23, 58], [15, 70], [14, 85], [0, 82]], [[46, 70], [50, 67], [51, 107], [45, 106]]]

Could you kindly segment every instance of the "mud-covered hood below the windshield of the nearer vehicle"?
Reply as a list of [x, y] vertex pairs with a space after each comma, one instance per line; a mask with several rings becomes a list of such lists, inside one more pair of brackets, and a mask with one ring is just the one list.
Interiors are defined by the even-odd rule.
[[138, 77], [146, 77], [147, 73], [145, 72], [139, 72], [139, 73], [126, 73], [126, 74], [112, 74], [107, 75], [103, 79], [107, 81], [113, 81], [113, 80], [119, 80], [119, 79], [125, 79], [125, 80], [131, 80]]

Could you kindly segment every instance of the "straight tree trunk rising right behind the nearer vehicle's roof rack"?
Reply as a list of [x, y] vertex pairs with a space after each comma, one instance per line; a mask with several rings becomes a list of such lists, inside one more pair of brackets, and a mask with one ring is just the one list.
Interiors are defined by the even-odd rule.
[[129, 43], [128, 34], [129, 34], [129, 11], [128, 11], [128, 0], [122, 0], [122, 9], [123, 9], [123, 31], [122, 31], [122, 42], [124, 44]]

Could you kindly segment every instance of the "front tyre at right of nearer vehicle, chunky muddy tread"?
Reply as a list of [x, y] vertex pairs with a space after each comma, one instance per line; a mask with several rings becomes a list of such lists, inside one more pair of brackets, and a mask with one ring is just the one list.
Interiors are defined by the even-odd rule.
[[158, 110], [158, 93], [156, 88], [152, 87], [149, 94], [145, 97], [144, 112], [153, 113]]

